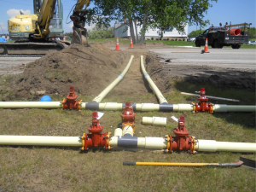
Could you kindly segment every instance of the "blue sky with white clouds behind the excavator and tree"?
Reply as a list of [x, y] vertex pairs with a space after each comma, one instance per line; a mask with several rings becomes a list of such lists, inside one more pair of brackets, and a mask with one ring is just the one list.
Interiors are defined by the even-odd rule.
[[[66, 24], [70, 20], [67, 15], [72, 9], [77, 0], [62, 0], [63, 4], [63, 29], [64, 32], [72, 32], [73, 23]], [[20, 10], [25, 14], [33, 14], [32, 0], [0, 0], [0, 26], [3, 33], [8, 33], [8, 20], [15, 15], [20, 15]], [[94, 6], [93, 3], [90, 6]], [[218, 26], [219, 22], [224, 24], [228, 22], [239, 24], [243, 22], [253, 23], [256, 27], [256, 0], [218, 0], [218, 3], [212, 3], [212, 8], [207, 10], [204, 17], [205, 20], [210, 20], [210, 25]], [[113, 26], [111, 22], [111, 26]], [[0, 27], [0, 33], [2, 29]], [[91, 26], [87, 26], [90, 29]], [[205, 27], [207, 28], [207, 27]], [[189, 26], [189, 32], [200, 29], [200, 26]]]

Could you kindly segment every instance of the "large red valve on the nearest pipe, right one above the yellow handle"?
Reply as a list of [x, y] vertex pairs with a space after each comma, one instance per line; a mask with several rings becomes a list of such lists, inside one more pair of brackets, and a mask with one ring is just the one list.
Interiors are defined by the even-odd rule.
[[195, 138], [189, 137], [189, 131], [185, 127], [184, 116], [178, 119], [178, 126], [173, 130], [175, 137], [166, 136], [167, 148], [166, 152], [173, 152], [174, 150], [187, 150], [189, 154], [195, 154]]

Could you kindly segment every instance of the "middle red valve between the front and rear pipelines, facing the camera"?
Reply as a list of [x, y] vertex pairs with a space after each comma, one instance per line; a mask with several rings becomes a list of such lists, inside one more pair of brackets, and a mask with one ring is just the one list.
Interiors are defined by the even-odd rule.
[[131, 106], [131, 102], [125, 102], [124, 112], [121, 113], [122, 118], [122, 126], [123, 130], [125, 126], [130, 125], [133, 129], [133, 133], [135, 132], [135, 116], [136, 113], [133, 113], [133, 108]]

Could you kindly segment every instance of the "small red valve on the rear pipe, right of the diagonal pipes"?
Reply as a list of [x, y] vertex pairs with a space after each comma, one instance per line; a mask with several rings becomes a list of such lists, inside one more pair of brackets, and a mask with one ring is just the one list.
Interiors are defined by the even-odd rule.
[[213, 104], [208, 102], [208, 98], [206, 96], [205, 88], [201, 88], [200, 97], [197, 98], [199, 103], [193, 102], [193, 113], [198, 113], [200, 111], [213, 113]]

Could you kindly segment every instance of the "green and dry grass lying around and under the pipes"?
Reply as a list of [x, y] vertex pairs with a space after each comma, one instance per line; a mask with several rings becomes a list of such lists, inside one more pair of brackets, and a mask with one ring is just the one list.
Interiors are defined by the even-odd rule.
[[[207, 95], [241, 99], [256, 104], [255, 91], [218, 89], [211, 84], [190, 84], [173, 80], [173, 91], [165, 96], [170, 103], [196, 102], [180, 95], [206, 87]], [[93, 96], [79, 96], [90, 102]], [[54, 101], [60, 101], [58, 96]], [[107, 96], [102, 102], [152, 102], [153, 94]], [[230, 102], [218, 102], [234, 104]], [[103, 111], [104, 131], [113, 132], [121, 122], [121, 111]], [[92, 111], [60, 109], [0, 110], [0, 135], [79, 136], [87, 132]], [[173, 135], [177, 123], [170, 117], [184, 115], [191, 136], [225, 142], [256, 143], [256, 113], [163, 113], [136, 112], [137, 137]], [[142, 125], [144, 116], [167, 117], [166, 126]], [[253, 126], [250, 126], [253, 124]], [[0, 191], [255, 191], [256, 172], [240, 168], [122, 166], [123, 161], [155, 162], [235, 162], [239, 156], [256, 160], [256, 154], [230, 152], [186, 152], [162, 154], [152, 151], [92, 151], [79, 154], [79, 148], [0, 147]]]

